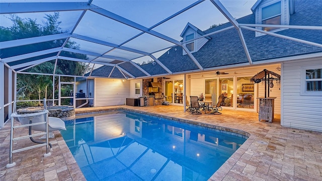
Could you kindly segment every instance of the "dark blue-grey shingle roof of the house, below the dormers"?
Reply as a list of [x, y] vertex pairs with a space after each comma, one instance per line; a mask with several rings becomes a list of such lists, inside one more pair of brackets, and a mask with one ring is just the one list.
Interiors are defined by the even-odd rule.
[[[290, 25], [322, 25], [322, 1], [296, 1], [295, 14], [290, 16]], [[255, 16], [248, 15], [236, 20], [240, 24], [255, 24]], [[206, 34], [231, 26], [230, 23], [204, 31]], [[270, 35], [256, 37], [254, 31], [242, 29], [253, 62], [289, 56], [322, 52], [322, 48]], [[322, 44], [319, 30], [287, 29], [277, 34]], [[211, 39], [192, 55], [203, 68], [247, 63], [248, 59], [235, 29], [210, 36]], [[177, 49], [177, 51], [175, 51]], [[169, 53], [168, 53], [169, 52]], [[198, 69], [188, 55], [182, 55], [182, 48], [173, 47], [158, 59], [173, 72]], [[171, 66], [173, 65], [173, 66]]]

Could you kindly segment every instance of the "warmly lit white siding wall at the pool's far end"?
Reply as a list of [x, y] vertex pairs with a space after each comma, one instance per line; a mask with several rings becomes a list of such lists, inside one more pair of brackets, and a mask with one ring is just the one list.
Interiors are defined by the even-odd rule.
[[130, 81], [112, 78], [95, 78], [94, 107], [125, 105], [130, 96]]

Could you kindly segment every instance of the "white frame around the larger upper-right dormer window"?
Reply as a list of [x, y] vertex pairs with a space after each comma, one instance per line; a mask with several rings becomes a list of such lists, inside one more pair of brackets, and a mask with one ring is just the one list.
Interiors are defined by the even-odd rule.
[[[256, 24], [262, 24], [262, 21], [263, 21], [262, 20], [262, 9], [267, 6], [278, 3], [278, 2], [281, 2], [281, 14], [280, 14], [280, 16], [281, 16], [280, 23], [281, 24], [280, 25], [289, 25], [290, 24], [290, 14], [289, 14], [289, 3], [288, 3], [289, 1], [288, 0], [273, 0], [271, 2], [264, 3], [261, 6], [259, 6], [256, 10]], [[264, 30], [264, 28], [262, 28], [262, 27], [256, 27], [256, 28], [260, 29], [260, 30]], [[272, 30], [270, 32], [275, 33], [275, 32], [279, 32], [279, 31], [286, 30], [286, 29], [288, 29], [288, 28], [278, 28], [278, 29]], [[256, 32], [255, 34], [256, 34], [256, 37], [266, 35], [265, 33], [260, 33], [260, 32]]]

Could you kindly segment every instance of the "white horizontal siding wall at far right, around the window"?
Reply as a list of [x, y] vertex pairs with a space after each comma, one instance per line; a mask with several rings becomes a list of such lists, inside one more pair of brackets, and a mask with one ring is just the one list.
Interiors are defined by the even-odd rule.
[[321, 64], [320, 58], [283, 63], [282, 126], [322, 131], [322, 94], [301, 95], [300, 81], [301, 67]]

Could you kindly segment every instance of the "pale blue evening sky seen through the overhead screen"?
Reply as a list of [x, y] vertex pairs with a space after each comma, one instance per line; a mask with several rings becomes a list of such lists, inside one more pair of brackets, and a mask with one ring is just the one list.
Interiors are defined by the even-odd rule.
[[[39, 1], [18, 1], [18, 0], [0, 0], [0, 2], [87, 2], [87, 1], [77, 1], [77, 0], [39, 0]], [[155, 25], [156, 23], [166, 19], [172, 14], [184, 9], [185, 7], [195, 3], [196, 1], [188, 0], [175, 0], [175, 1], [109, 1], [109, 0], [94, 0], [92, 5], [104, 8], [112, 13], [120, 15], [126, 19], [129, 19], [135, 23], [143, 25], [147, 28]], [[251, 14], [251, 7], [256, 3], [255, 0], [220, 0], [223, 6], [228, 10], [228, 12], [234, 18], [240, 18]], [[82, 11], [76, 12], [60, 12], [61, 28], [67, 31], [72, 30], [73, 26], [77, 22]], [[22, 18], [36, 19], [39, 24], [44, 21], [45, 14], [51, 13], [28, 13], [28, 14], [18, 14]], [[6, 18], [8, 15], [0, 16], [0, 26], [11, 26], [11, 21]], [[181, 32], [185, 28], [187, 23], [191, 23], [200, 30], [206, 30], [213, 24], [226, 23], [228, 20], [216, 9], [216, 7], [210, 2], [205, 1], [199, 5], [193, 7], [192, 9], [176, 16], [175, 18], [167, 21], [166, 23], [159, 25], [152, 30], [162, 33], [168, 37], [181, 41]], [[99, 40], [107, 41], [114, 44], [121, 44], [128, 40], [132, 36], [140, 33], [139, 30], [131, 28], [127, 25], [115, 22], [106, 17], [100, 16], [96, 13], [88, 11], [83, 17], [82, 21], [79, 23], [74, 33], [89, 36], [91, 38], [96, 38]], [[147, 42], [153, 42], [152, 45], [147, 46]], [[87, 46], [86, 42], [79, 41], [81, 45], [81, 50], [93, 51], [97, 49], [97, 53], [101, 53], [104, 48], [101, 46]], [[143, 34], [138, 38], [124, 44], [126, 47], [139, 49], [146, 52], [154, 52], [156, 50], [172, 46], [174, 44], [167, 42], [162, 39], [155, 38], [152, 35]], [[104, 52], [104, 51], [103, 51]], [[160, 56], [162, 52], [156, 53], [155, 56]], [[113, 56], [118, 56], [124, 54], [124, 52], [111, 52]], [[131, 59], [137, 57], [137, 55], [128, 55]], [[151, 59], [149, 57], [141, 58], [143, 60], [137, 60], [138, 62]]]

